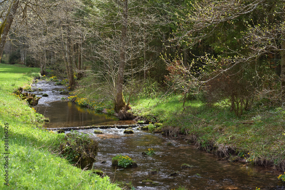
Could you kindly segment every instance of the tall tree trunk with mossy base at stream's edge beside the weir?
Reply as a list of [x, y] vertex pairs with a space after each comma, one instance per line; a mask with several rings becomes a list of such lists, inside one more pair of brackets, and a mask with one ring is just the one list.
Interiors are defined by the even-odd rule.
[[116, 85], [116, 102], [115, 111], [120, 111], [125, 105], [125, 98], [123, 95], [123, 82], [124, 82], [124, 70], [125, 70], [125, 54], [126, 54], [126, 40], [127, 40], [127, 27], [128, 27], [128, 0], [123, 0], [123, 21], [121, 30], [121, 47], [120, 47], [120, 59], [118, 68], [118, 77]]

